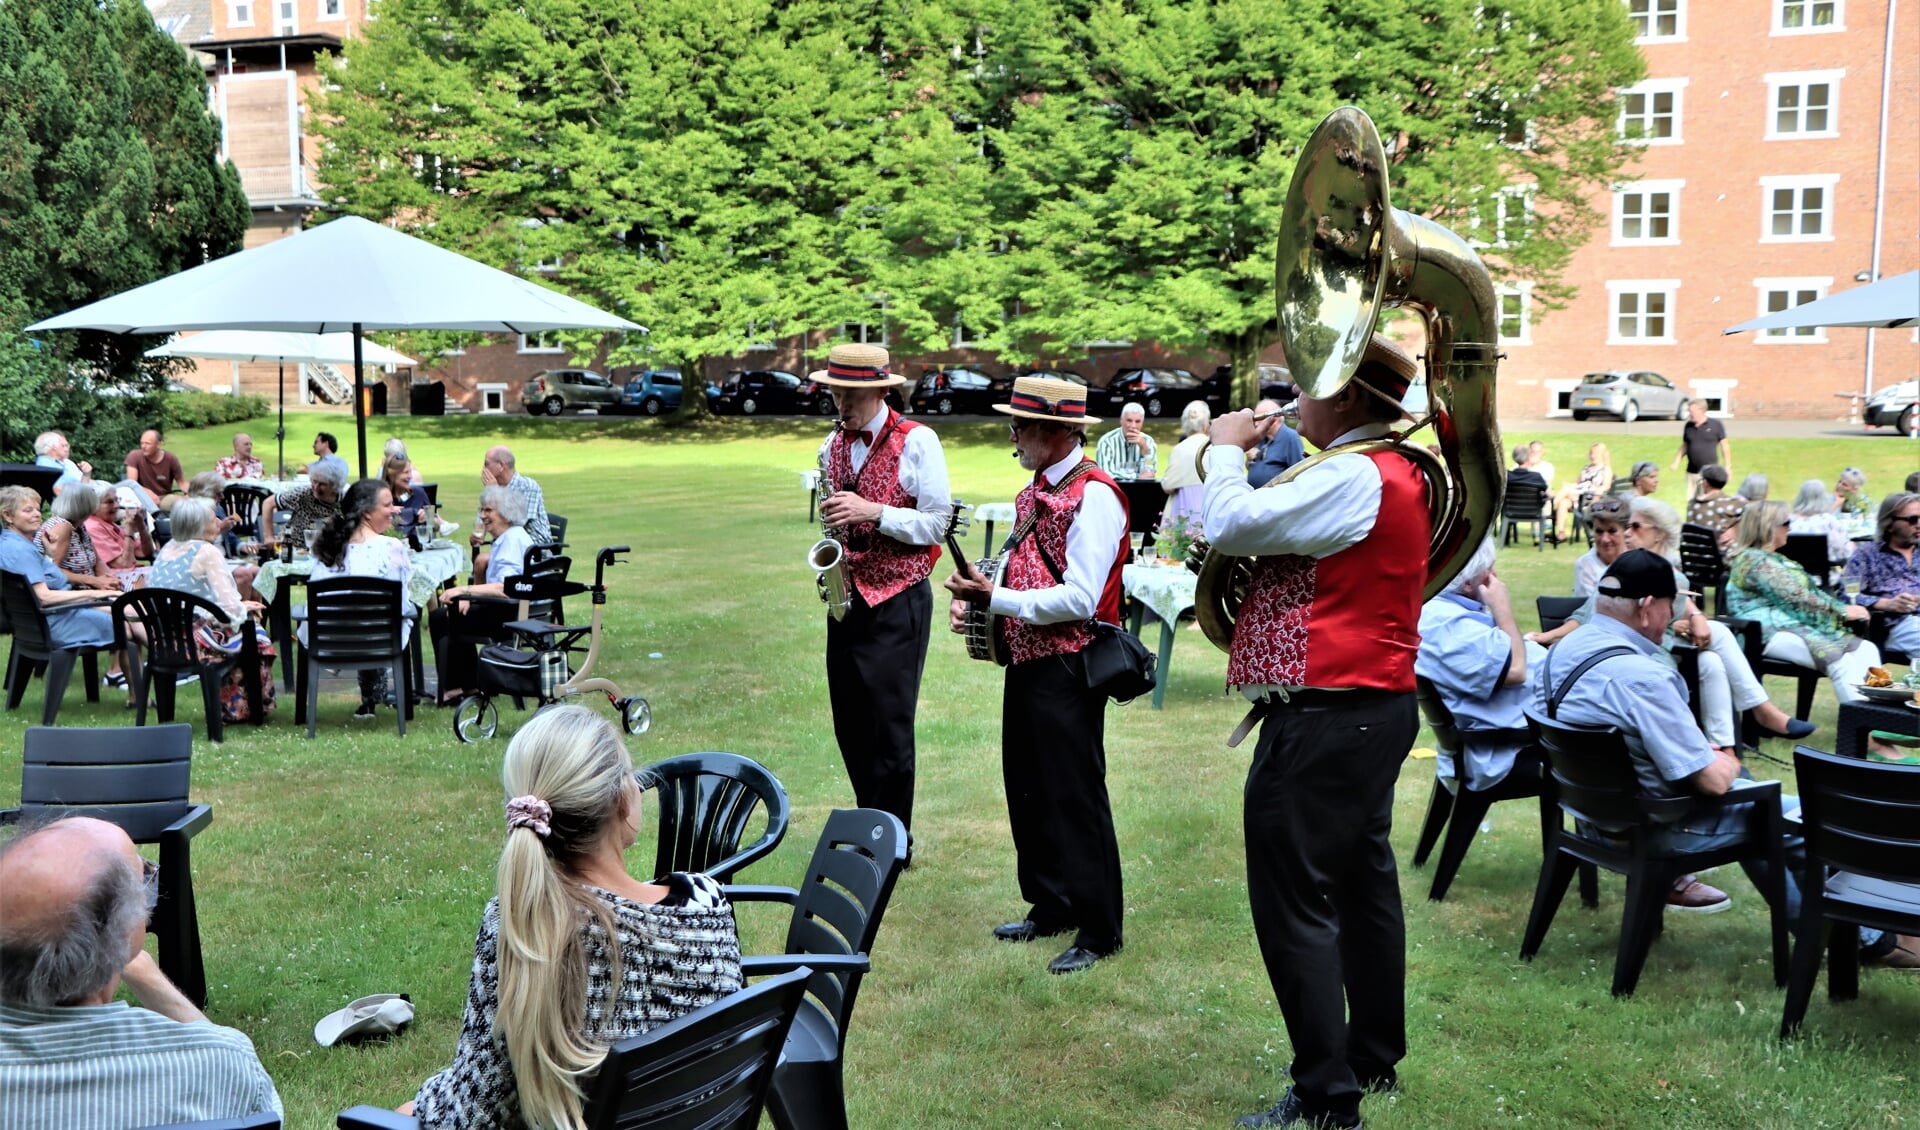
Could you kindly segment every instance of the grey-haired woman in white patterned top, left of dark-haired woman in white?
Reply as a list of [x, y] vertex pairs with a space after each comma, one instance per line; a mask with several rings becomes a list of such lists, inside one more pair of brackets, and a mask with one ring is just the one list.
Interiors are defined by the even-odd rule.
[[[227, 620], [213, 620], [205, 614], [194, 625], [194, 645], [205, 662], [232, 658], [242, 647], [242, 631], [253, 631], [259, 648], [261, 708], [273, 714], [273, 641], [253, 624], [253, 616], [265, 612], [259, 600], [244, 600], [227, 558], [215, 545], [221, 535], [221, 520], [213, 516], [213, 503], [188, 495], [173, 505], [173, 541], [154, 554], [154, 572], [146, 577], [148, 589], [173, 589], [192, 593], [219, 604]], [[227, 671], [221, 683], [221, 718], [225, 721], [248, 721], [253, 706], [246, 700], [240, 668]]]

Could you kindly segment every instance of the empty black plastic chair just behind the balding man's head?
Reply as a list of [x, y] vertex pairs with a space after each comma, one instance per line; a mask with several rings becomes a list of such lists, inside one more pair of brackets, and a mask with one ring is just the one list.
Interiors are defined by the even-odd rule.
[[136, 844], [159, 844], [159, 906], [146, 929], [159, 938], [159, 971], [196, 1005], [207, 1003], [194, 913], [188, 842], [213, 823], [213, 810], [186, 796], [194, 727], [27, 727], [19, 808], [0, 823], [35, 815], [92, 815], [117, 823]]

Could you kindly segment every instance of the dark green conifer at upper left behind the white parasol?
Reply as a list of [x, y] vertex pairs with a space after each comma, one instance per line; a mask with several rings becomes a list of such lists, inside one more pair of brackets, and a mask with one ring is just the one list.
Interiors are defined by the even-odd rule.
[[[240, 247], [200, 67], [136, 0], [0, 4], [0, 330]], [[58, 334], [67, 363], [157, 378], [144, 338]]]

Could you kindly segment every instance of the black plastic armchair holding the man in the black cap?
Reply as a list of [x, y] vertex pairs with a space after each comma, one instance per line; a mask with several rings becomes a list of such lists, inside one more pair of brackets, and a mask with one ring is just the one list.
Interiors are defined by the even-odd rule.
[[[1626, 877], [1620, 946], [1613, 959], [1613, 996], [1632, 996], [1640, 982], [1640, 971], [1647, 963], [1647, 952], [1653, 948], [1653, 938], [1665, 925], [1667, 894], [1672, 890], [1674, 879], [1722, 863], [1764, 859], [1768, 883], [1761, 894], [1766, 896], [1766, 906], [1772, 911], [1774, 984], [1786, 984], [1788, 898], [1786, 848], [1780, 840], [1780, 783], [1766, 781], [1747, 789], [1730, 789], [1720, 796], [1644, 796], [1620, 731], [1561, 725], [1542, 718], [1528, 718], [1528, 723], [1534, 741], [1548, 754], [1561, 813], [1607, 831], [1580, 835], [1567, 829], [1565, 819], [1553, 821], [1551, 846], [1540, 867], [1540, 884], [1534, 888], [1534, 907], [1526, 915], [1521, 961], [1532, 961], [1540, 944], [1546, 942], [1553, 913], [1567, 896], [1574, 869], [1582, 863], [1605, 867]], [[1653, 850], [1655, 825], [1734, 804], [1747, 804], [1745, 836], [1738, 844], [1713, 852], [1657, 854]], [[1599, 838], [1601, 835], [1605, 838]]]

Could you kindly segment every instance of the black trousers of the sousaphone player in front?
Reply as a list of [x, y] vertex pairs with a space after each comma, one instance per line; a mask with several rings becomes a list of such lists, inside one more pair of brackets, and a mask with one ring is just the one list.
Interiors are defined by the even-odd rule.
[[1413, 694], [1308, 693], [1260, 727], [1246, 773], [1246, 898], [1315, 1115], [1359, 1111], [1359, 1080], [1407, 1053], [1407, 930], [1388, 835], [1413, 748]]

